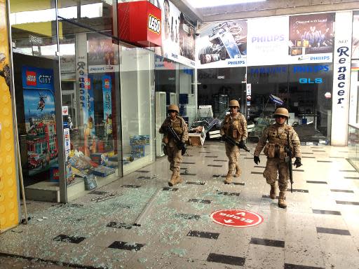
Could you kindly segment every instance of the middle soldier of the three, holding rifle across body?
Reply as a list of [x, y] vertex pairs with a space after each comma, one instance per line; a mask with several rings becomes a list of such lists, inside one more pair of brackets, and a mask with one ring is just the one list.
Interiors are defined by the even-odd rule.
[[[247, 138], [247, 121], [243, 114], [241, 114], [239, 110], [239, 103], [237, 100], [233, 99], [229, 101], [229, 110], [230, 113], [227, 115], [222, 121], [221, 127], [221, 135], [222, 140], [224, 140], [225, 136], [231, 137], [236, 142], [240, 144], [244, 144], [243, 139]], [[234, 177], [241, 176], [241, 169], [238, 165], [239, 159], [239, 147], [232, 146], [228, 142], [225, 144], [226, 146], [226, 156], [229, 158], [228, 162], [228, 172], [226, 175], [226, 179], [224, 180], [225, 184], [230, 184], [232, 181], [232, 174], [236, 170], [236, 174]]]

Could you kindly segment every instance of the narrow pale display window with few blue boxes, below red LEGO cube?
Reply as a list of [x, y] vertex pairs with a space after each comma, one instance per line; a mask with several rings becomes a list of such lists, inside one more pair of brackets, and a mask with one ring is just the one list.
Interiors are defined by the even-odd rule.
[[154, 53], [120, 47], [123, 174], [155, 160]]

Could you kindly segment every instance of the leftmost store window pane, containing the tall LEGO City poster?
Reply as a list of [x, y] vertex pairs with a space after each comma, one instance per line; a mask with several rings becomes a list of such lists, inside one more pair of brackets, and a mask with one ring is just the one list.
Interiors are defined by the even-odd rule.
[[57, 200], [55, 76], [58, 75], [55, 1], [9, 1], [13, 75], [25, 193]]

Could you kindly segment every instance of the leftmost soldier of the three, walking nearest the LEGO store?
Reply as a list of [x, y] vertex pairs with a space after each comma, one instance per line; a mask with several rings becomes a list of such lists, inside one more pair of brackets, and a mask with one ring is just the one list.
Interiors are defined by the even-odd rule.
[[[173, 186], [177, 183], [181, 183], [182, 179], [179, 177], [179, 164], [182, 163], [182, 147], [188, 140], [188, 128], [184, 119], [178, 116], [179, 109], [175, 104], [168, 106], [168, 116], [163, 121], [159, 130], [160, 134], [165, 134], [162, 141], [165, 143], [165, 150], [167, 151], [168, 161], [170, 162], [170, 170], [172, 171], [172, 177], [168, 185]], [[178, 137], [181, 139], [181, 143], [177, 143], [172, 135], [168, 134], [167, 127], [171, 125], [175, 130]]]

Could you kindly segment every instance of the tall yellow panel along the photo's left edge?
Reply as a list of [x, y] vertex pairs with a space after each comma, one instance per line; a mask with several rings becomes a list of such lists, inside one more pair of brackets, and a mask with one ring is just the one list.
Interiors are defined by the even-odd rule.
[[19, 223], [6, 1], [0, 0], [0, 233]]

